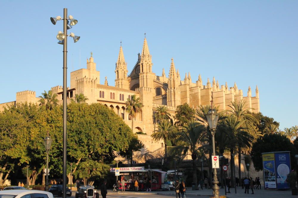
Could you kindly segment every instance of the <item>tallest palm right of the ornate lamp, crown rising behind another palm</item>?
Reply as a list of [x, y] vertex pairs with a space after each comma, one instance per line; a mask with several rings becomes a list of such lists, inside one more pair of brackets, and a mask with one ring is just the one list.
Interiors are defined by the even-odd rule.
[[[249, 109], [247, 108], [244, 110], [245, 106], [242, 100], [236, 102], [232, 102], [230, 105], [228, 105], [231, 110], [228, 110], [228, 112], [232, 113], [236, 116], [238, 121], [243, 121], [243, 128], [245, 128], [245, 131], [252, 135], [253, 139], [257, 139], [257, 137], [260, 135], [258, 133], [257, 129], [257, 119], [249, 112]], [[244, 142], [238, 142], [238, 167], [241, 167], [241, 150], [242, 148], [246, 147], [246, 144]], [[238, 177], [239, 177], [239, 184], [241, 185], [241, 169], [239, 168], [238, 171]]]

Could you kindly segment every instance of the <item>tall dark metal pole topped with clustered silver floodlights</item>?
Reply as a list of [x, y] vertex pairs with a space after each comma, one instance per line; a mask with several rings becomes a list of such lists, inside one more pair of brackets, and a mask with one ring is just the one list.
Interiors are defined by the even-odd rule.
[[[66, 147], [67, 147], [67, 142], [66, 142], [66, 119], [67, 119], [67, 36], [73, 37], [74, 42], [77, 42], [80, 37], [75, 36], [74, 33], [70, 33], [67, 35], [67, 30], [72, 28], [75, 24], [77, 24], [77, 20], [72, 17], [72, 15], [69, 15], [67, 17], [67, 8], [63, 9], [63, 19], [58, 16], [56, 18], [51, 17], [51, 22], [56, 25], [57, 20], [63, 20], [63, 33], [58, 32], [57, 39], [59, 40], [58, 44], [63, 45], [63, 176], [62, 176], [62, 197], [66, 198]], [[70, 21], [69, 21], [70, 20]]]

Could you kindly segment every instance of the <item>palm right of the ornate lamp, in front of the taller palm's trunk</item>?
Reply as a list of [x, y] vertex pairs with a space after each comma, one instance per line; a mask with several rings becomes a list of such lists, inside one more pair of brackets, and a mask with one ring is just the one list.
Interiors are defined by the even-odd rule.
[[[235, 115], [230, 115], [224, 121], [226, 125], [227, 133], [229, 133], [228, 141], [230, 142], [230, 154], [231, 154], [231, 183], [234, 183], [234, 172], [233, 168], [235, 168], [235, 160], [233, 157], [234, 150], [236, 146], [240, 144], [240, 147], [245, 145], [249, 147], [252, 143], [253, 136], [247, 132], [247, 128], [245, 128], [245, 120], [238, 120]], [[240, 168], [240, 167], [239, 167]], [[240, 178], [239, 178], [240, 179]]]

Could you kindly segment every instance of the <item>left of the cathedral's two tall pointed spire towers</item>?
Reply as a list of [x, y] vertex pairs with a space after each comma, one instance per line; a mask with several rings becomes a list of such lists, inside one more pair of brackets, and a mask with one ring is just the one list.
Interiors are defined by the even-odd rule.
[[118, 60], [116, 63], [116, 79], [115, 79], [115, 87], [129, 89], [129, 83], [127, 80], [127, 63], [125, 62], [122, 46], [120, 46]]

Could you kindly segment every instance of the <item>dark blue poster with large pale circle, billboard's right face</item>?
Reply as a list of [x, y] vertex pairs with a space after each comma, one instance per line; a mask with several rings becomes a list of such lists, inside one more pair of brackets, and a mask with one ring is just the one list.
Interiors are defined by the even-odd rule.
[[274, 153], [275, 154], [275, 172], [277, 180], [277, 189], [289, 189], [287, 183], [287, 175], [291, 171], [290, 153]]

